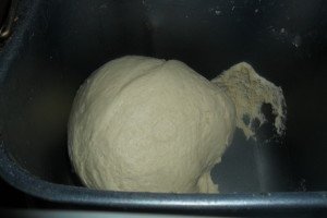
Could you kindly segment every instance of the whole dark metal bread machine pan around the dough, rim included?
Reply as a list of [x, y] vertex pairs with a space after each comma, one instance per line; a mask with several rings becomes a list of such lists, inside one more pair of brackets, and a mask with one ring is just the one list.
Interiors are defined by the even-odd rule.
[[[0, 174], [16, 189], [120, 208], [326, 209], [326, 1], [24, 0], [17, 14], [0, 51]], [[207, 78], [250, 62], [284, 92], [286, 137], [272, 137], [271, 123], [257, 142], [238, 131], [211, 172], [223, 195], [78, 187], [66, 154], [73, 97], [90, 72], [124, 55], [178, 59]]]

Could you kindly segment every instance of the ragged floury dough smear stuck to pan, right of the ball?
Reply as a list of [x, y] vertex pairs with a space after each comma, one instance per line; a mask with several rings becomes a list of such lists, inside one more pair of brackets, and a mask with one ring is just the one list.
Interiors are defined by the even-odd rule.
[[[238, 63], [222, 72], [211, 81], [232, 99], [237, 111], [237, 126], [247, 138], [255, 137], [253, 122], [258, 120], [259, 125], [267, 120], [262, 112], [262, 106], [269, 104], [272, 108], [275, 128], [278, 135], [286, 131], [286, 101], [281, 87], [259, 76], [254, 69], [245, 62]], [[244, 118], [249, 122], [244, 122]]]

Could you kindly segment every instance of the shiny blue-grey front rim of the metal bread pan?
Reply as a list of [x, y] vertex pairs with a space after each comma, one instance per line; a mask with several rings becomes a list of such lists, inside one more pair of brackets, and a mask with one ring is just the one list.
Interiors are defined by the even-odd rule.
[[[46, 182], [9, 158], [0, 145], [0, 174], [33, 196], [57, 203], [132, 210], [193, 211], [197, 214], [304, 213], [327, 209], [327, 192], [271, 194], [162, 194], [109, 192]], [[218, 214], [216, 214], [218, 215]]]

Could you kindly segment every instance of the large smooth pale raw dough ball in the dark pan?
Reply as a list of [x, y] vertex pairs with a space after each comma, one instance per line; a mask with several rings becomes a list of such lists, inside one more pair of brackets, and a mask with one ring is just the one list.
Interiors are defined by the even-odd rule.
[[211, 193], [234, 125], [231, 100], [184, 63], [123, 57], [81, 86], [69, 155], [88, 187]]

